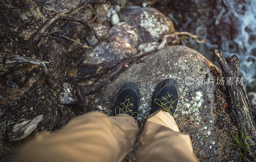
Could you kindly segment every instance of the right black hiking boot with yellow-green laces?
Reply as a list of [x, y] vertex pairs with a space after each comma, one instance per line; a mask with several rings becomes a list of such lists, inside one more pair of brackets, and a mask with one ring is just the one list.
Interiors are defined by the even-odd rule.
[[152, 109], [150, 114], [157, 110], [163, 110], [173, 113], [178, 104], [179, 87], [178, 82], [173, 79], [166, 79], [162, 81], [157, 87], [152, 97]]

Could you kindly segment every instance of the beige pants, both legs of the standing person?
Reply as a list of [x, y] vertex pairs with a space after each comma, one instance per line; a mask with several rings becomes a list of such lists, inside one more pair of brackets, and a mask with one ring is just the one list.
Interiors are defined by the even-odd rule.
[[[189, 136], [179, 132], [170, 114], [159, 110], [146, 119], [140, 129], [136, 161], [196, 161]], [[11, 160], [118, 162], [138, 137], [133, 117], [89, 112], [72, 119], [57, 133], [36, 136]]]

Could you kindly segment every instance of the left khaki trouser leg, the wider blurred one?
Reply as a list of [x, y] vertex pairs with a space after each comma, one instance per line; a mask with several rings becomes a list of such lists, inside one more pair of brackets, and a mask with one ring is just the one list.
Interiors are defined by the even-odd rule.
[[117, 162], [138, 140], [139, 127], [125, 114], [90, 112], [72, 119], [57, 133], [41, 133], [13, 161]]

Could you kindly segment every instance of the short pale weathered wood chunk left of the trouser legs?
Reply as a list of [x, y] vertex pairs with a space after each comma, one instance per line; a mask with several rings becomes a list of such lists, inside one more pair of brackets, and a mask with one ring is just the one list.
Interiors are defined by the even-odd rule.
[[12, 126], [11, 131], [8, 133], [10, 141], [19, 141], [27, 137], [33, 130], [36, 129], [38, 123], [43, 119], [43, 115], [36, 116], [32, 120], [20, 119]]

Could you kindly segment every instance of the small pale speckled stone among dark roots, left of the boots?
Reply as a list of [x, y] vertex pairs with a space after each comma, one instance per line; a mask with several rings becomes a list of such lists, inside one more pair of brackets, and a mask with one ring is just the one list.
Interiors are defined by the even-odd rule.
[[69, 83], [63, 83], [63, 90], [59, 99], [60, 103], [64, 105], [76, 103], [76, 97], [72, 94], [72, 87]]

